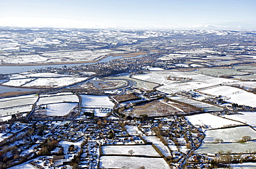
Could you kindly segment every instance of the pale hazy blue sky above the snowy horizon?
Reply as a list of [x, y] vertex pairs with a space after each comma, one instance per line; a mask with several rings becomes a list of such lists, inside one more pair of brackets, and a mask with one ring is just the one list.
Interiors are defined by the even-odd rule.
[[256, 30], [256, 0], [0, 0], [0, 4], [0, 26]]

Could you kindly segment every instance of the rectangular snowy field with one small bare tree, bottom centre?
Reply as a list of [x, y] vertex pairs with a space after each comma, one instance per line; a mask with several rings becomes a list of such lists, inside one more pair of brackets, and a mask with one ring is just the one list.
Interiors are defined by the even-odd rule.
[[145, 155], [149, 157], [161, 157], [151, 145], [138, 146], [102, 146], [103, 155], [130, 155], [129, 150], [133, 150], [133, 155]]

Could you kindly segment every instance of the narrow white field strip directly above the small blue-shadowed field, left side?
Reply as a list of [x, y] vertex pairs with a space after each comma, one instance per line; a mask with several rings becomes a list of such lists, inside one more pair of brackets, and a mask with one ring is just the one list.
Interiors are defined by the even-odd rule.
[[37, 105], [61, 103], [61, 102], [75, 102], [78, 103], [77, 95], [40, 95]]

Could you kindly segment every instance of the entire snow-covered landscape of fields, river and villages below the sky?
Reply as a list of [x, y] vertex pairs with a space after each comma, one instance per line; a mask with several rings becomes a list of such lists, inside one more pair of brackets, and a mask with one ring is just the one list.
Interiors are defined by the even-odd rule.
[[0, 31], [0, 168], [256, 168], [255, 31]]

